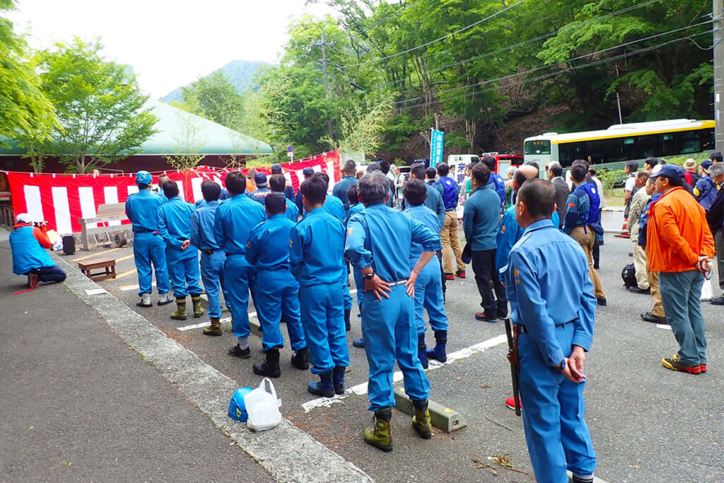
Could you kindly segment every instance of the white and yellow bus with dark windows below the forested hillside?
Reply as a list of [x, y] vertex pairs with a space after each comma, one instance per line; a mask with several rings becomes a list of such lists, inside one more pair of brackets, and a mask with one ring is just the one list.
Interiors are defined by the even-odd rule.
[[677, 156], [713, 149], [714, 121], [672, 119], [617, 124], [583, 133], [545, 133], [524, 140], [523, 157], [536, 161], [541, 168], [551, 161], [568, 167], [576, 159], [585, 159], [592, 166], [613, 170], [623, 169], [626, 161], [649, 156]]

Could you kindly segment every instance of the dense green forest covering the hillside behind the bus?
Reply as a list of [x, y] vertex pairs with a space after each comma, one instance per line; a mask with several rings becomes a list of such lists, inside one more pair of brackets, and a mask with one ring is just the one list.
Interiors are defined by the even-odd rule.
[[410, 161], [436, 126], [450, 152], [520, 151], [618, 123], [618, 103], [623, 122], [712, 118], [709, 0], [327, 3], [338, 17], [293, 21], [279, 66], [241, 96], [240, 129], [282, 155]]

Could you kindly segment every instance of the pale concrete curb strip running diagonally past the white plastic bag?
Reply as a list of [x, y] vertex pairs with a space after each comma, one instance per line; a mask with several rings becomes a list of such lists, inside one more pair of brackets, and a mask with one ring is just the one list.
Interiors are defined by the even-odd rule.
[[214, 426], [280, 482], [372, 482], [371, 477], [311, 435], [282, 419], [278, 427], [252, 432], [227, 415], [237, 384], [209, 366], [195, 353], [170, 339], [151, 322], [111, 294], [87, 295], [100, 286], [51, 253], [67, 272], [64, 285], [94, 308], [109, 327], [161, 377], [176, 385], [184, 397]]

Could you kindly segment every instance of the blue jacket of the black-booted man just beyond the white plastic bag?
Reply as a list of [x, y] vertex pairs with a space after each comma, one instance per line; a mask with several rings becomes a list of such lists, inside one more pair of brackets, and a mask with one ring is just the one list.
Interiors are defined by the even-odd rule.
[[273, 214], [251, 230], [246, 261], [257, 270], [289, 269], [289, 240], [294, 223], [285, 214]]

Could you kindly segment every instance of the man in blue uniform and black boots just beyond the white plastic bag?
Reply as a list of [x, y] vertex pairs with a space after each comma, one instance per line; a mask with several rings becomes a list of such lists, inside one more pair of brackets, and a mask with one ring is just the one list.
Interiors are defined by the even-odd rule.
[[[281, 176], [281, 175], [279, 175]], [[294, 223], [287, 219], [287, 198], [284, 193], [269, 193], [264, 199], [266, 222], [256, 225], [246, 244], [246, 261], [256, 266], [258, 290], [256, 311], [264, 314], [261, 322], [261, 345], [266, 359], [253, 366], [254, 374], [279, 377], [279, 349], [284, 337], [279, 322], [284, 314], [290, 344], [295, 355], [292, 364], [298, 369], [309, 369], [309, 349], [299, 320], [299, 282], [289, 272], [289, 236]]]

